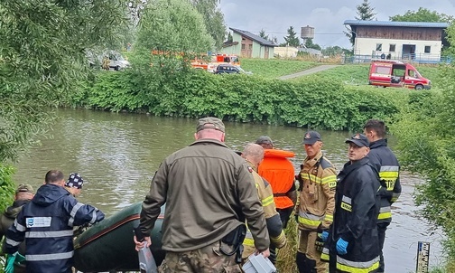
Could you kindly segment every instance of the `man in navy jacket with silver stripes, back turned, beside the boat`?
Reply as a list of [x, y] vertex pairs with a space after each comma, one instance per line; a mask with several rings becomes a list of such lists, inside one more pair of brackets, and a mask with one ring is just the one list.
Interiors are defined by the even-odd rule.
[[6, 253], [14, 259], [25, 240], [26, 272], [70, 273], [73, 257], [73, 226], [104, 219], [97, 208], [78, 202], [63, 188], [65, 179], [57, 170], [46, 174], [32, 202], [23, 206], [14, 225], [6, 232]]

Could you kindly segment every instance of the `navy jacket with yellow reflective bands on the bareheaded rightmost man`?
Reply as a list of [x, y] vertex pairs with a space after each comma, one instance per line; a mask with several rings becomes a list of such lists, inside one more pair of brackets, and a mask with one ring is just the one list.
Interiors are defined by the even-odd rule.
[[381, 180], [381, 210], [377, 216], [378, 223], [392, 221], [391, 205], [401, 194], [400, 165], [392, 150], [387, 146], [387, 139], [379, 139], [370, 143], [368, 154], [370, 161], [376, 166]]

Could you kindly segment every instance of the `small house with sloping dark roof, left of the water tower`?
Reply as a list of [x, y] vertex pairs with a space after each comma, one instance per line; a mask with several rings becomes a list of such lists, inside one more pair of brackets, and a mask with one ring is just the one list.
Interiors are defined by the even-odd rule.
[[245, 58], [274, 58], [274, 42], [270, 42], [253, 33], [229, 28], [232, 31], [232, 42], [226, 42], [222, 53]]

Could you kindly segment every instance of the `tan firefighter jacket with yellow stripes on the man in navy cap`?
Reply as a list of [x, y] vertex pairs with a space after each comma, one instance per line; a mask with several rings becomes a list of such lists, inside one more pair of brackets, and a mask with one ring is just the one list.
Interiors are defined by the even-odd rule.
[[337, 174], [335, 167], [319, 152], [314, 158], [305, 158], [301, 176], [302, 189], [296, 214], [299, 215], [299, 229], [329, 229], [333, 221]]

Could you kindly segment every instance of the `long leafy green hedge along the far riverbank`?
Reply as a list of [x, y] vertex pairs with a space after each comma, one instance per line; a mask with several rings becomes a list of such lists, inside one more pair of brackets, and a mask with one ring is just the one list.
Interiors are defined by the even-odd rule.
[[73, 106], [157, 116], [216, 116], [331, 130], [356, 130], [368, 118], [398, 112], [409, 91], [347, 86], [310, 77], [298, 82], [251, 75], [215, 75], [206, 71], [104, 71], [81, 84]]

